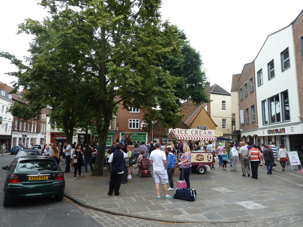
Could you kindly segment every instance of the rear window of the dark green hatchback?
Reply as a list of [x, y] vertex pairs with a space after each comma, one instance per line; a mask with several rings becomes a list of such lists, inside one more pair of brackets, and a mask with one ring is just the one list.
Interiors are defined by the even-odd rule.
[[47, 172], [58, 170], [53, 160], [22, 160], [19, 162], [18, 172]]

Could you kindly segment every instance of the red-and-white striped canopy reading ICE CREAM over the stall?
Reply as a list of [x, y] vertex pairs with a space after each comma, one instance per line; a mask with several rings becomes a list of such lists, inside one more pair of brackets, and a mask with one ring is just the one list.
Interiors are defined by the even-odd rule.
[[214, 130], [199, 129], [169, 129], [168, 140], [217, 140], [213, 136]]

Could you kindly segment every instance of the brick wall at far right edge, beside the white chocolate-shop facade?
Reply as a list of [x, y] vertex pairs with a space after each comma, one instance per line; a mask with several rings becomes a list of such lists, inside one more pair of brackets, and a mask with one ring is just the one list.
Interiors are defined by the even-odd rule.
[[300, 115], [303, 116], [303, 60], [301, 54], [301, 43], [300, 38], [303, 36], [303, 11], [296, 18], [293, 23], [293, 37], [294, 37], [294, 47], [295, 47], [295, 62], [297, 70], [297, 83], [298, 83], [298, 97], [299, 97], [299, 108]]

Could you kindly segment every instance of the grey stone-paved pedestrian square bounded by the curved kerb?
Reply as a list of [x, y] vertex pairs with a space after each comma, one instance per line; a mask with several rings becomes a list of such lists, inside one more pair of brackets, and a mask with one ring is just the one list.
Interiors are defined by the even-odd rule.
[[[238, 168], [241, 168], [240, 163]], [[161, 188], [161, 200], [157, 201], [154, 178], [139, 178], [138, 174], [132, 174], [132, 179], [121, 185], [119, 196], [109, 197], [109, 177], [89, 177], [90, 173], [82, 173], [83, 176], [74, 180], [72, 173], [65, 173], [65, 192], [87, 208], [166, 222], [245, 223], [276, 218], [277, 215], [303, 214], [303, 188], [298, 186], [302, 182], [301, 170], [285, 173], [280, 170], [267, 175], [266, 167], [261, 167], [257, 180], [241, 176], [241, 171], [220, 170], [218, 167], [204, 175], [191, 173], [191, 186], [197, 191], [195, 202], [164, 200]], [[104, 173], [110, 175], [107, 169]], [[173, 178], [176, 182], [178, 175]], [[168, 191], [168, 194], [173, 196], [174, 191]], [[252, 201], [264, 208], [247, 209], [236, 204], [241, 201]]]

